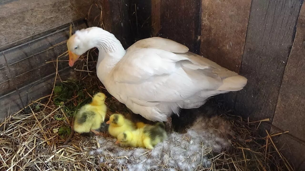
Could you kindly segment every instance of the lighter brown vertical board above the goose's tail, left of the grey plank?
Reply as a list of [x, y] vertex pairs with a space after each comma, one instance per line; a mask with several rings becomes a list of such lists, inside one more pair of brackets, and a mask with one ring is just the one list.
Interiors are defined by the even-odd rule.
[[246, 40], [251, 0], [203, 0], [201, 54], [239, 72]]

